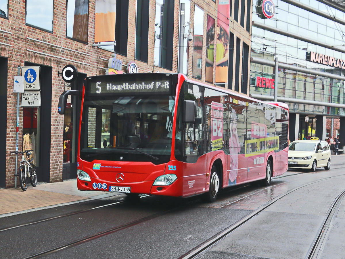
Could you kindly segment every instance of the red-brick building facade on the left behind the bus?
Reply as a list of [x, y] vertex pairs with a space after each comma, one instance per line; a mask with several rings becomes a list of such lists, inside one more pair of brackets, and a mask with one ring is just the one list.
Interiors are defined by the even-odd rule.
[[[37, 3], [36, 3], [37, 2]], [[112, 51], [103, 49], [103, 47], [93, 46], [95, 43], [95, 16], [97, 0], [76, 1], [80, 6], [87, 8], [83, 13], [84, 26], [87, 34], [84, 38], [77, 36], [68, 36], [68, 1], [37, 0], [37, 4], [32, 11], [32, 2], [18, 0], [0, 0], [0, 105], [2, 113], [0, 114], [0, 125], [2, 134], [0, 135], [0, 188], [10, 188], [14, 186], [14, 168], [15, 157], [10, 151], [16, 148], [16, 123], [17, 123], [17, 94], [13, 93], [14, 76], [18, 75], [18, 67], [40, 67], [40, 90], [41, 106], [38, 108], [19, 108], [19, 151], [22, 150], [23, 132], [30, 132], [36, 137], [36, 160], [38, 170], [38, 181], [41, 182], [59, 182], [62, 179], [75, 177], [72, 172], [75, 168], [75, 149], [76, 142], [64, 142], [68, 130], [71, 130], [72, 124], [66, 126], [66, 121], [72, 121], [78, 125], [78, 111], [71, 112], [71, 117], [63, 118], [57, 112], [58, 100], [60, 94], [66, 89], [80, 89], [82, 81], [86, 76], [102, 75], [106, 73], [108, 61], [112, 54], [122, 61], [122, 71], [126, 73], [126, 65], [134, 61], [138, 66], [139, 73], [161, 72], [176, 73], [178, 71], [178, 51], [179, 51], [179, 16], [180, 2], [171, 0], [129, 0], [116, 2], [116, 26], [115, 40], [116, 47]], [[212, 17], [217, 22], [219, 13], [218, 0], [195, 0], [182, 1], [189, 6], [188, 20], [190, 28], [194, 28], [195, 21], [201, 21], [203, 35], [206, 38], [207, 16]], [[224, 1], [222, 1], [224, 2]], [[7, 7], [6, 7], [7, 4]], [[45, 15], [46, 5], [51, 4], [51, 19], [48, 19], [48, 29], [43, 28], [46, 25], [39, 23], [40, 15]], [[249, 0], [230, 1], [229, 31], [232, 42], [229, 41], [229, 66], [228, 78], [230, 83], [220, 84], [220, 87], [229, 88], [243, 94], [248, 94], [248, 88], [245, 83], [249, 79], [249, 54], [244, 55], [244, 49], [249, 52], [250, 49], [250, 31], [252, 4]], [[75, 8], [80, 8], [75, 5]], [[171, 51], [171, 60], [164, 65], [156, 65], [155, 41], [159, 39], [157, 31], [157, 13], [163, 15], [158, 9], [163, 8], [168, 12], [170, 23], [168, 23], [168, 50]], [[168, 10], [166, 7], [170, 6]], [[40, 13], [42, 7], [43, 12]], [[35, 9], [36, 8], [36, 9]], [[74, 8], [74, 7], [73, 7]], [[138, 9], [137, 9], [138, 8]], [[195, 17], [195, 9], [201, 9], [203, 17]], [[138, 11], [142, 15], [138, 15]], [[163, 9], [161, 9], [163, 10]], [[128, 12], [127, 12], [128, 11]], [[36, 16], [35, 16], [36, 15]], [[76, 13], [74, 14], [76, 17]], [[30, 20], [30, 19], [31, 20]], [[76, 19], [76, 18], [75, 18]], [[82, 19], [82, 18], [78, 18]], [[138, 20], [141, 19], [141, 20]], [[47, 21], [47, 19], [46, 19]], [[51, 24], [50, 24], [51, 22]], [[51, 28], [50, 28], [51, 26]], [[75, 26], [75, 25], [74, 25]], [[141, 26], [142, 37], [139, 37], [138, 31]], [[74, 27], [76, 28], [76, 27]], [[195, 30], [195, 28], [194, 28]], [[186, 31], [185, 31], [186, 32]], [[198, 36], [199, 37], [199, 36]], [[140, 51], [138, 42], [140, 44]], [[206, 58], [206, 40], [202, 45], [202, 63]], [[189, 42], [193, 46], [193, 40]], [[139, 53], [140, 52], [140, 53]], [[216, 53], [214, 53], [216, 57]], [[192, 77], [193, 49], [188, 48], [184, 56], [184, 62], [187, 62], [187, 76]], [[65, 83], [59, 73], [62, 68], [68, 64], [74, 65], [79, 76], [75, 83], [71, 85]], [[203, 68], [205, 68], [203, 66]], [[205, 81], [205, 70], [201, 70], [201, 79]], [[237, 74], [247, 75], [245, 78], [239, 78]], [[239, 73], [240, 72], [240, 73]], [[216, 69], [213, 69], [214, 84], [216, 78]], [[244, 87], [243, 87], [244, 86]], [[70, 101], [76, 108], [78, 99]], [[79, 104], [80, 105], [80, 104]], [[72, 108], [72, 105], [71, 107]], [[4, 112], [6, 109], [7, 113]], [[27, 116], [29, 128], [23, 128], [23, 115]], [[36, 123], [36, 124], [35, 124]], [[34, 128], [36, 126], [36, 128]], [[5, 134], [6, 131], [6, 134]], [[71, 133], [72, 134], [72, 133]], [[74, 135], [73, 135], [74, 134]], [[74, 129], [73, 136], [77, 134]], [[66, 144], [66, 145], [65, 145]], [[67, 147], [69, 146], [69, 147]], [[68, 155], [65, 154], [65, 149]], [[72, 157], [71, 160], [65, 156]], [[74, 156], [74, 157], [73, 157]], [[64, 170], [68, 172], [63, 176]]]

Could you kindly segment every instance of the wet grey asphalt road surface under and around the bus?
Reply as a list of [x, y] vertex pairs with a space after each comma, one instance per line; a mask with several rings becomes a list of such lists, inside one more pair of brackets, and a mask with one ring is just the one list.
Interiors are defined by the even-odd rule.
[[[271, 199], [296, 189], [197, 258], [305, 258], [330, 205], [345, 190], [344, 168], [345, 156], [332, 156], [329, 171], [289, 170], [273, 178], [266, 188], [245, 185], [227, 189], [214, 203], [203, 203], [198, 197], [126, 200], [125, 196], [114, 196], [2, 218], [1, 229], [85, 210], [0, 231], [1, 257], [28, 258], [61, 247], [42, 257], [179, 258]], [[117, 201], [120, 203], [87, 210]], [[342, 202], [319, 258], [343, 258], [344, 224]], [[66, 244], [70, 245], [64, 247]]]

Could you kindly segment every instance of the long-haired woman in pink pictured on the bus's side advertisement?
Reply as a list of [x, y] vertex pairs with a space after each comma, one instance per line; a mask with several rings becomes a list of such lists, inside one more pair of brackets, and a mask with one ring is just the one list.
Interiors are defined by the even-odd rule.
[[233, 109], [229, 115], [230, 117], [230, 133], [229, 133], [229, 151], [230, 151], [230, 172], [229, 185], [236, 184], [237, 170], [238, 170], [238, 154], [241, 152], [241, 146], [237, 134], [237, 114]]

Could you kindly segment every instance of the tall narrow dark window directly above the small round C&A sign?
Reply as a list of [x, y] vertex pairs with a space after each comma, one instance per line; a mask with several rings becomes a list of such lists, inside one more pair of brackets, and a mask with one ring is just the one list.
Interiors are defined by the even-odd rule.
[[135, 58], [147, 62], [149, 37], [149, 0], [137, 0]]

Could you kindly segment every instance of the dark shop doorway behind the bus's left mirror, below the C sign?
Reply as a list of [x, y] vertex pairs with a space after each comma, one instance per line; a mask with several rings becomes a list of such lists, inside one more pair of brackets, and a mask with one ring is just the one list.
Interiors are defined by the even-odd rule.
[[[86, 74], [78, 73], [77, 80], [65, 83], [65, 90], [82, 90]], [[62, 180], [77, 178], [77, 144], [80, 117], [80, 97], [70, 95], [63, 116]]]

